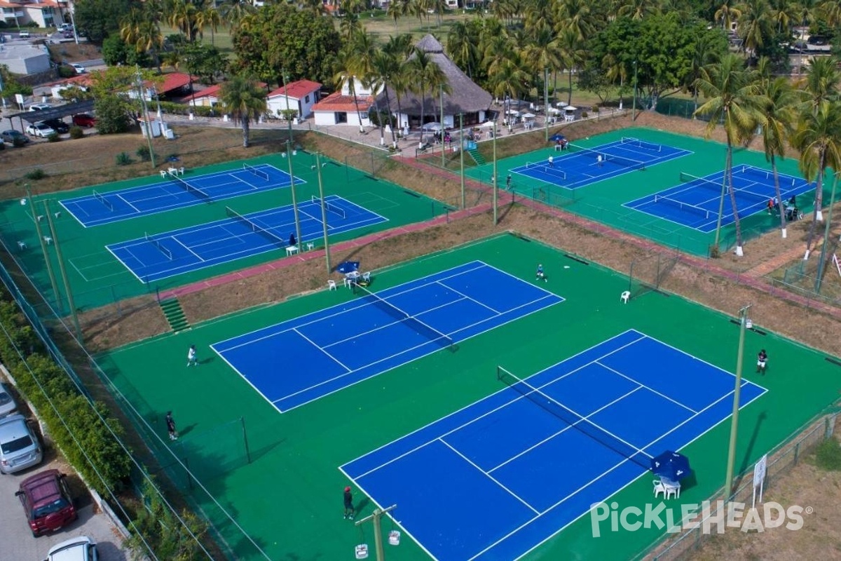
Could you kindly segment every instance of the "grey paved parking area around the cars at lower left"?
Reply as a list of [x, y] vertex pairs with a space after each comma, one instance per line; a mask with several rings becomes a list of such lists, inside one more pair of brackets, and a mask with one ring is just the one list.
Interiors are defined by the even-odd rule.
[[[119, 532], [103, 514], [93, 514], [93, 505], [79, 506], [79, 519], [58, 532], [32, 537], [18, 497], [14, 496], [20, 481], [49, 464], [27, 469], [21, 474], [0, 475], [0, 559], [8, 561], [43, 561], [56, 543], [71, 537], [89, 536], [98, 542], [101, 561], [126, 561], [127, 554], [119, 548]], [[57, 466], [56, 466], [57, 467]]]

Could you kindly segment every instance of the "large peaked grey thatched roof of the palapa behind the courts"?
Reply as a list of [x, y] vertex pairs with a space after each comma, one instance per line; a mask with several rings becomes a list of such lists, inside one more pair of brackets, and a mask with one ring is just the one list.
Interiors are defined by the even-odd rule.
[[[447, 77], [447, 83], [450, 85], [452, 93], [444, 93], [444, 114], [476, 113], [490, 107], [491, 95], [473, 83], [461, 68], [447, 58], [447, 55], [444, 54], [444, 48], [435, 37], [428, 34], [419, 40], [415, 46], [428, 53], [431, 61], [438, 65]], [[414, 56], [414, 54], [410, 56], [410, 59]], [[391, 87], [388, 90], [394, 110], [397, 108], [395, 103], [397, 97]], [[380, 95], [380, 101], [383, 103], [384, 97], [384, 93]], [[439, 103], [439, 93], [427, 93], [424, 114], [430, 116], [439, 114], [441, 111]], [[404, 94], [400, 97], [400, 109], [405, 114], [420, 115], [421, 96], [415, 93]]]

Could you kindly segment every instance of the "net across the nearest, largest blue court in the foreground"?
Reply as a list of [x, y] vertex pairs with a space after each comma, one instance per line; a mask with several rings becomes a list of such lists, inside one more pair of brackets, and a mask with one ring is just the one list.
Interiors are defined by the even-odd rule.
[[564, 421], [569, 426], [584, 435], [599, 442], [602, 446], [610, 448], [613, 452], [619, 454], [623, 458], [631, 460], [642, 468], [651, 468], [651, 454], [643, 452], [630, 442], [627, 442], [620, 437], [617, 437], [611, 431], [596, 425], [587, 417], [583, 417], [574, 410], [569, 409], [566, 405], [562, 405], [557, 400], [549, 397], [543, 393], [541, 389], [537, 389], [532, 384], [525, 380], [518, 378], [515, 374], [510, 373], [501, 366], [496, 367], [496, 378], [506, 384], [509, 388], [514, 389], [527, 400], [532, 401], [536, 405], [540, 405], [544, 410], [555, 415], [561, 421]]

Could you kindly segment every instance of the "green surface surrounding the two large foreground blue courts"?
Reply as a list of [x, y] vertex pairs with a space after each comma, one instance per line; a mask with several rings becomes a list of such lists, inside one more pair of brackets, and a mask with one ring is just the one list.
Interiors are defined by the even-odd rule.
[[[727, 372], [735, 370], [738, 325], [731, 317], [674, 295], [637, 288], [630, 302], [622, 304], [620, 294], [629, 288], [624, 275], [519, 236], [495, 236], [375, 271], [372, 289], [383, 290], [474, 260], [526, 283], [535, 283], [540, 262], [549, 279], [540, 288], [565, 300], [462, 341], [456, 352], [439, 350], [283, 414], [209, 346], [358, 298], [341, 284], [336, 291], [325, 289], [241, 311], [195, 325], [192, 331], [123, 347], [98, 357], [98, 362], [161, 438], [151, 447], [159, 454], [163, 447], [171, 447], [272, 559], [352, 558], [361, 541], [373, 549], [371, 527], [361, 537], [353, 523], [340, 516], [341, 491], [349, 482], [338, 467], [500, 390], [497, 365], [527, 376], [634, 329]], [[737, 313], [733, 310], [733, 315]], [[186, 367], [191, 344], [198, 347], [197, 368]], [[841, 367], [821, 352], [770, 332], [748, 331], [745, 348], [745, 378], [768, 391], [741, 412], [738, 472], [751, 468], [757, 458], [837, 399], [841, 374]], [[764, 377], [754, 373], [753, 358], [760, 348], [770, 357]], [[278, 377], [295, 376], [282, 357], [267, 361], [265, 368]], [[600, 388], [592, 391], [598, 393]], [[163, 423], [167, 410], [173, 411], [181, 432], [174, 444], [167, 440]], [[729, 431], [729, 422], [723, 421], [682, 450], [691, 460], [696, 480], [685, 484], [680, 500], [669, 500], [669, 507], [701, 503], [722, 486]], [[172, 457], [160, 459], [182, 492], [214, 521], [233, 557], [262, 558]], [[651, 480], [643, 475], [611, 500], [620, 508], [644, 508], [653, 500]], [[405, 484], [425, 482], [420, 478]], [[373, 501], [355, 491], [357, 518], [371, 514]], [[430, 494], [428, 500], [434, 505], [436, 496]], [[474, 516], [471, 508], [463, 505], [459, 516]], [[397, 520], [399, 509], [398, 505], [394, 513]], [[680, 509], [675, 514], [680, 519]], [[626, 559], [664, 536], [663, 529], [608, 532], [603, 525], [601, 537], [594, 538], [590, 524], [589, 515], [581, 516], [526, 558]], [[390, 529], [390, 521], [384, 521], [383, 532]], [[406, 535], [399, 556], [393, 546], [386, 547], [389, 558], [428, 558]]]

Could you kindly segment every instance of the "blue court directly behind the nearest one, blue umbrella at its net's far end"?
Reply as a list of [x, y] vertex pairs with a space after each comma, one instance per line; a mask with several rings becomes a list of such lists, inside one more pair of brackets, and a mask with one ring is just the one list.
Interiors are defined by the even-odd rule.
[[211, 348], [283, 412], [431, 352], [456, 352], [459, 341], [563, 302], [479, 261], [376, 294], [357, 291], [350, 302]]

